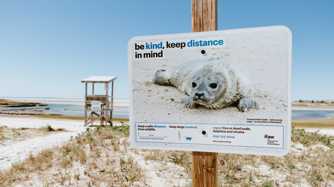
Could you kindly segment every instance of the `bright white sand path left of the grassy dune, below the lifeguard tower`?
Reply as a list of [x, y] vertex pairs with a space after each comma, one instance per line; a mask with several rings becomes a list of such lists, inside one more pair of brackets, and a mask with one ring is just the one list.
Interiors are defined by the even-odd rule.
[[23, 138], [0, 144], [0, 170], [8, 168], [12, 163], [28, 158], [28, 154], [37, 154], [42, 149], [52, 148], [67, 141], [71, 136], [76, 136], [86, 130], [83, 121], [0, 117], [0, 126], [8, 128], [40, 128], [50, 125], [53, 129], [63, 128], [69, 132], [59, 132], [44, 137]]

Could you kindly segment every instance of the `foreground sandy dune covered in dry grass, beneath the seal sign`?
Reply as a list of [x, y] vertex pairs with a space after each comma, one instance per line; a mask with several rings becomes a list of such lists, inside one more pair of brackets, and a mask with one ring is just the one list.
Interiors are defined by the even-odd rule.
[[[218, 186], [333, 186], [334, 137], [292, 127], [291, 141], [283, 157], [218, 153]], [[149, 170], [145, 165], [152, 163], [160, 169], [149, 173], [154, 164]], [[182, 171], [171, 170], [173, 165]], [[122, 124], [88, 128], [62, 146], [30, 154], [0, 171], [0, 186], [146, 186], [150, 175], [169, 183], [189, 179], [170, 186], [191, 186], [191, 173], [191, 152], [136, 149], [129, 125]]]

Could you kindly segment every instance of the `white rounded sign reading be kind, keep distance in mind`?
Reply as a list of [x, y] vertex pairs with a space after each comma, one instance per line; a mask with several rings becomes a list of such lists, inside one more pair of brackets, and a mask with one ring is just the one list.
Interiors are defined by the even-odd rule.
[[291, 37], [287, 27], [272, 26], [132, 38], [132, 145], [286, 155]]

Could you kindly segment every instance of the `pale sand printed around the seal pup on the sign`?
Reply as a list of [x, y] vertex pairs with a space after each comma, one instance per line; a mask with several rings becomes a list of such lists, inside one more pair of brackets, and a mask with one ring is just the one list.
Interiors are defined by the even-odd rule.
[[[161, 123], [254, 124], [247, 118], [283, 119], [288, 122], [288, 34], [284, 30], [225, 35], [225, 48], [164, 51], [165, 59], [132, 61], [133, 121]], [[181, 106], [188, 97], [173, 86], [152, 82], [155, 72], [171, 70], [195, 59], [224, 56], [240, 64], [253, 85], [258, 110], [240, 112], [235, 106], [222, 109]], [[256, 123], [259, 125], [260, 123]], [[267, 125], [261, 123], [261, 125]], [[275, 124], [277, 125], [277, 124]], [[280, 124], [281, 125], [281, 124]], [[134, 124], [135, 126], [135, 124]], [[287, 128], [285, 128], [287, 129]], [[287, 134], [287, 132], [285, 132]], [[286, 146], [286, 145], [285, 145]]]

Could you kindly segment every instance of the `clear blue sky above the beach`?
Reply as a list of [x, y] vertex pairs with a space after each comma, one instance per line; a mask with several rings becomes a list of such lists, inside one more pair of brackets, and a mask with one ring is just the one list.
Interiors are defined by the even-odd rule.
[[[334, 1], [218, 1], [218, 30], [284, 25], [293, 35], [292, 99], [334, 99]], [[83, 98], [89, 76], [117, 76], [127, 44], [191, 32], [188, 1], [0, 1], [0, 97]], [[102, 90], [102, 88], [100, 89]]]

